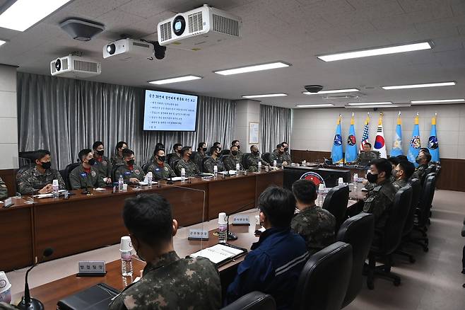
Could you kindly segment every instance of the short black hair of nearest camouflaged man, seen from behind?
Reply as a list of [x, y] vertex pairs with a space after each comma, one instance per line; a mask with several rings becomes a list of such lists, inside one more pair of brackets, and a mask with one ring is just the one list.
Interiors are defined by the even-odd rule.
[[159, 246], [172, 239], [171, 205], [161, 195], [140, 194], [127, 198], [123, 221], [132, 235], [151, 246]]

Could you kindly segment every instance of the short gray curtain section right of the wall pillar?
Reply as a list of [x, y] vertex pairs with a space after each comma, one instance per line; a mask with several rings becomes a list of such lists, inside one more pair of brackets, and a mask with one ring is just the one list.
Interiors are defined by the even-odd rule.
[[276, 145], [290, 140], [290, 109], [260, 105], [261, 151], [273, 151]]

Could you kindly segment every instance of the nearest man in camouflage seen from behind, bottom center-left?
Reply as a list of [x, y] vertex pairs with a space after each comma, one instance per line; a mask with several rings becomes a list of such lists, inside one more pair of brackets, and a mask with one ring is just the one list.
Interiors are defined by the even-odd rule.
[[177, 256], [173, 246], [177, 221], [163, 196], [141, 194], [126, 199], [123, 219], [134, 250], [147, 265], [141, 280], [126, 287], [109, 310], [220, 308], [216, 266], [207, 258]]

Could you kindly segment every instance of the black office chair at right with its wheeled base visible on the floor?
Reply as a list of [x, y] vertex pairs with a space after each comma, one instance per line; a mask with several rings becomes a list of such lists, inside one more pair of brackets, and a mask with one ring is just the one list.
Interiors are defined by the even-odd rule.
[[[405, 222], [412, 201], [412, 188], [407, 185], [397, 191], [394, 202], [389, 209], [386, 226], [383, 230], [375, 229], [375, 236], [368, 254], [367, 286], [374, 289], [375, 275], [392, 279], [395, 286], [401, 284], [401, 278], [391, 272], [392, 253], [399, 247], [404, 231]], [[377, 259], [386, 263], [376, 266]]]

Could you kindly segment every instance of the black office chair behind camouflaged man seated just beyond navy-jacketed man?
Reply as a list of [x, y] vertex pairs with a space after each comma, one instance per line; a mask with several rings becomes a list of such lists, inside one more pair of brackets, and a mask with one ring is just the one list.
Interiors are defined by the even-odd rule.
[[346, 219], [336, 236], [336, 241], [346, 242], [352, 246], [351, 280], [349, 280], [343, 307], [350, 304], [362, 289], [363, 266], [370, 252], [374, 232], [375, 216], [362, 212]]

